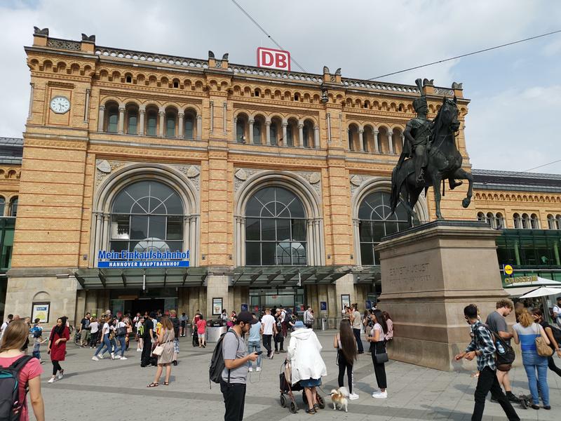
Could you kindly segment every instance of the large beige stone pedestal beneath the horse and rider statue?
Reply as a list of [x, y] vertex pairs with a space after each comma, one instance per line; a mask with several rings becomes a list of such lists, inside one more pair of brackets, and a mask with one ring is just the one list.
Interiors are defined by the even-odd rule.
[[495, 239], [483, 222], [435, 221], [388, 236], [380, 252], [379, 308], [393, 320], [391, 359], [437, 368], [474, 369], [452, 361], [471, 340], [464, 307], [475, 304], [485, 321], [507, 298]]

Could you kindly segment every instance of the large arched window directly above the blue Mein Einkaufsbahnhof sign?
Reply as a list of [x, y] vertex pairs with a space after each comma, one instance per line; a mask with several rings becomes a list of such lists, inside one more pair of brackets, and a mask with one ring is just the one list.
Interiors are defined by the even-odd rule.
[[114, 251], [180, 251], [183, 248], [182, 200], [158, 181], [138, 181], [124, 187], [111, 206]]

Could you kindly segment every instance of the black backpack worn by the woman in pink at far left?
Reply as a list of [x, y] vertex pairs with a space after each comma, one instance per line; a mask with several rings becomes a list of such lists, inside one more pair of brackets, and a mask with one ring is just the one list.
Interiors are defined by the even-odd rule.
[[25, 355], [8, 368], [0, 368], [0, 420], [20, 420], [25, 396], [27, 396], [27, 385], [25, 385], [25, 396], [23, 402], [20, 402], [20, 371], [32, 358], [30, 355]]

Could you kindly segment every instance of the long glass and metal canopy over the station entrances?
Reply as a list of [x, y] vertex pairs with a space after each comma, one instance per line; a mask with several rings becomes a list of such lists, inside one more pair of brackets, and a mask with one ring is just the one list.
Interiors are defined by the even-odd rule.
[[351, 266], [246, 266], [236, 268], [189, 267], [148, 269], [77, 269], [74, 276], [83, 289], [206, 286], [209, 275], [229, 276], [230, 286], [279, 287], [335, 283], [346, 274], [356, 274], [358, 283], [380, 279], [380, 267]]

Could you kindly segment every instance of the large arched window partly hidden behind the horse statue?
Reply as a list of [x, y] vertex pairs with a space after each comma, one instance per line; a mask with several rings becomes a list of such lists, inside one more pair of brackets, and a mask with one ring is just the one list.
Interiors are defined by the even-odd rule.
[[396, 213], [391, 213], [390, 194], [387, 192], [373, 192], [366, 196], [358, 207], [358, 220], [360, 262], [365, 266], [380, 264], [379, 253], [374, 251], [374, 246], [382, 237], [411, 226], [401, 202]]

